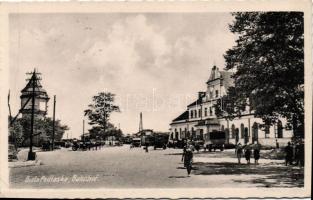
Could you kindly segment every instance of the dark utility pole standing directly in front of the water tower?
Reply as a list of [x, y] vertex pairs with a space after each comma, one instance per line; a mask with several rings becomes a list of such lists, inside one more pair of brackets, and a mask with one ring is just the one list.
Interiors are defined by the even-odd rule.
[[32, 112], [31, 112], [31, 129], [29, 137], [29, 152], [28, 160], [35, 160], [36, 154], [33, 152], [33, 134], [34, 134], [34, 115], [35, 115], [35, 81], [36, 81], [36, 71], [34, 70], [32, 75]]

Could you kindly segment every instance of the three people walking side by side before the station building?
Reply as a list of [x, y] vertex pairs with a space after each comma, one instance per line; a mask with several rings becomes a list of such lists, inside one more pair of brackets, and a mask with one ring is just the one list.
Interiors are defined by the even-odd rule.
[[253, 144], [253, 145], [241, 145], [240, 143], [237, 144], [235, 153], [238, 158], [238, 163], [241, 163], [241, 158], [244, 157], [246, 158], [247, 164], [250, 164], [250, 159], [251, 159], [251, 154], [253, 150], [253, 158], [254, 158], [254, 163], [257, 165], [259, 164], [259, 159], [260, 159], [260, 145], [259, 144]]

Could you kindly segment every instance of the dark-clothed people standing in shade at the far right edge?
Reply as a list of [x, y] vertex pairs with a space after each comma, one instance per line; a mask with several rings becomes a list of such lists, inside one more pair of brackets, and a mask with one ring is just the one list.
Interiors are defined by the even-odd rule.
[[[285, 164], [304, 166], [304, 142], [302, 140], [295, 143], [288, 142], [285, 147]], [[295, 163], [293, 163], [295, 161]]]

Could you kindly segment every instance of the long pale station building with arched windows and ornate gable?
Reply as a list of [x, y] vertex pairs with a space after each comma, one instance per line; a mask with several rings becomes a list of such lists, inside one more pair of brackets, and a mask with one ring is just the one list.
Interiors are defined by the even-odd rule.
[[199, 92], [196, 101], [187, 106], [181, 115], [170, 124], [170, 140], [183, 139], [203, 140], [205, 134], [213, 130], [225, 131], [228, 143], [241, 144], [254, 141], [265, 145], [275, 145], [276, 139], [285, 144], [293, 136], [292, 130], [287, 130], [286, 119], [281, 118], [274, 126], [260, 126], [262, 119], [255, 118], [253, 111], [246, 107], [240, 118], [227, 120], [215, 115], [214, 105], [217, 100], [227, 94], [232, 86], [232, 72], [220, 71], [213, 66], [206, 91]]

